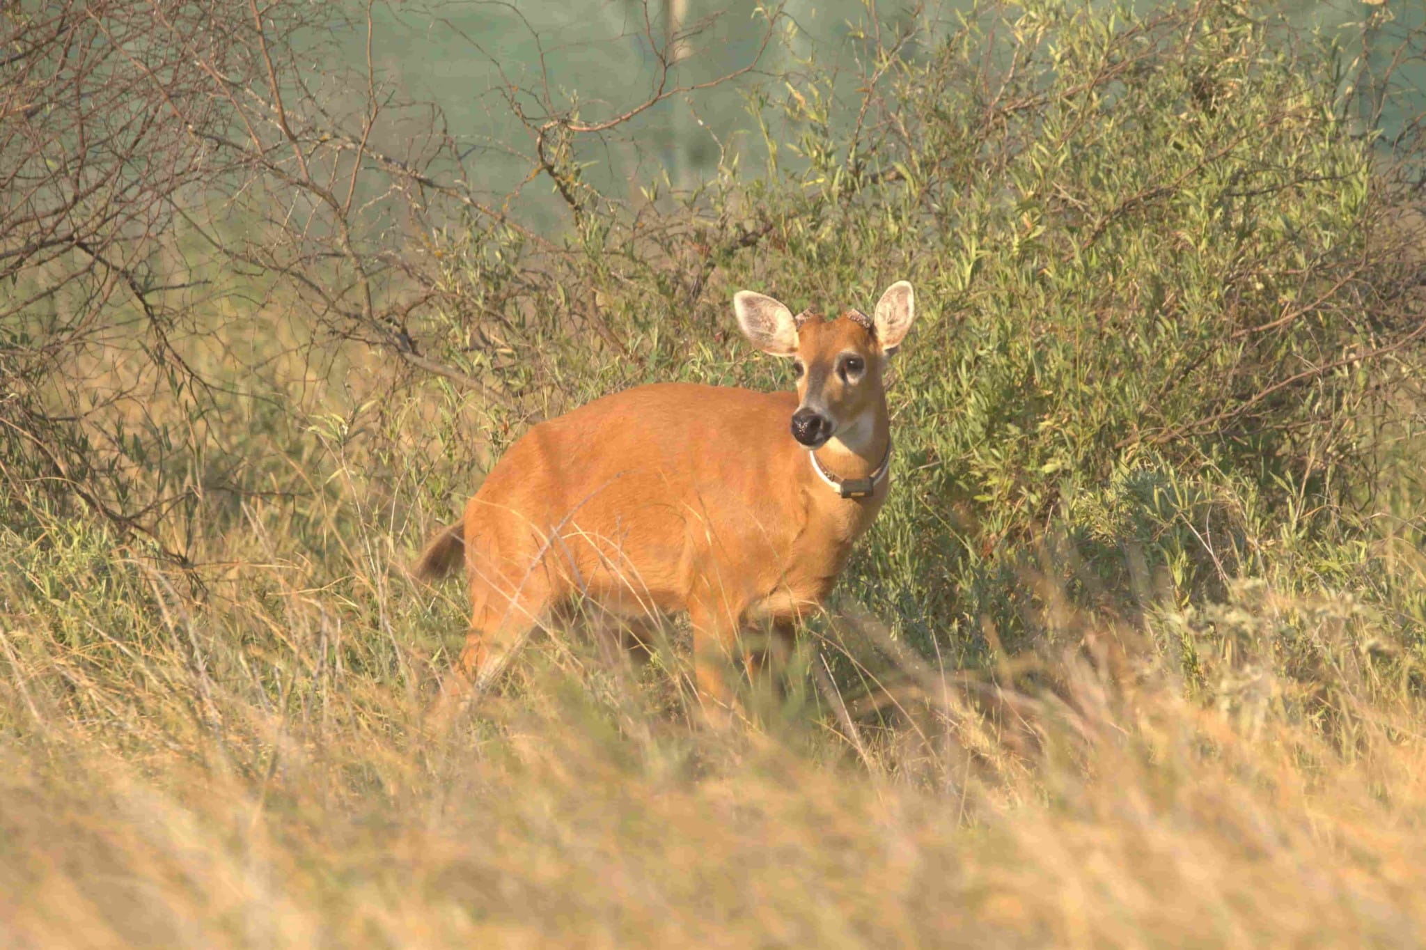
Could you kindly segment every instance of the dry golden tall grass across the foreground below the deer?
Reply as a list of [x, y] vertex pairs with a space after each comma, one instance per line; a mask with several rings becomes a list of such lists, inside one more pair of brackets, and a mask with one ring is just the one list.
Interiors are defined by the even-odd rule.
[[395, 552], [324, 578], [251, 523], [204, 591], [93, 533], [7, 543], [4, 946], [1420, 940], [1417, 670], [1348, 598], [1055, 605], [1061, 646], [985, 675], [848, 629], [877, 690], [803, 675], [726, 733], [677, 650], [549, 638], [442, 732], [458, 612]]

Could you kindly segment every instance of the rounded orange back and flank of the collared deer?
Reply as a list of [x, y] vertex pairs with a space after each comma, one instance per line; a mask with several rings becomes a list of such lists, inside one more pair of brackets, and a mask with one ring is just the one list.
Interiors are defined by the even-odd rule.
[[486, 556], [528, 561], [533, 548], [586, 589], [666, 609], [699, 583], [764, 586], [806, 519], [796, 405], [693, 384], [596, 399], [511, 446], [472, 499], [471, 533]]

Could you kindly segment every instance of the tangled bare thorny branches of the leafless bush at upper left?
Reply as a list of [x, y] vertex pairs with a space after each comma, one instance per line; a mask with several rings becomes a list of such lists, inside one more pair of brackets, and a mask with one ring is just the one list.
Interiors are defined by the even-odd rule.
[[[193, 515], [234, 481], [193, 464], [218, 438], [202, 419], [235, 397], [225, 379], [237, 368], [194, 351], [234, 314], [260, 317], [250, 332], [267, 334], [261, 325], [288, 315], [308, 341], [288, 348], [375, 348], [491, 405], [519, 399], [485, 348], [518, 335], [509, 314], [550, 270], [526, 265], [498, 297], [472, 301], [432, 238], [499, 231], [528, 254], [570, 251], [518, 220], [515, 194], [478, 191], [472, 150], [439, 110], [386, 83], [378, 7], [61, 0], [0, 11], [0, 441], [34, 461], [0, 474], [16, 496], [67, 494], [184, 562], [164, 518]], [[509, 84], [535, 131], [532, 175], [548, 175], [576, 211], [595, 197], [578, 180], [582, 138], [746, 76], [773, 29], [744, 66], [674, 81], [707, 24], [665, 29], [647, 3], [642, 13], [656, 70], [633, 106], [582, 120], [545, 78], [530, 90], [546, 113], [536, 120]], [[349, 76], [335, 66], [338, 41], [321, 39], [338, 34], [361, 47]], [[314, 60], [321, 73], [302, 66]], [[455, 361], [428, 325], [445, 311], [475, 320]], [[622, 347], [592, 301], [582, 314]], [[158, 402], [181, 408], [165, 415]], [[138, 484], [145, 496], [125, 501]]]

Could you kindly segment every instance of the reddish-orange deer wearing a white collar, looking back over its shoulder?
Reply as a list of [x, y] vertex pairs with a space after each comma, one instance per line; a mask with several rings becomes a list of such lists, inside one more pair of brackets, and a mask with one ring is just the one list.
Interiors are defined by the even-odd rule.
[[540, 422], [491, 471], [461, 522], [414, 573], [465, 563], [471, 633], [461, 668], [481, 688], [575, 595], [630, 620], [686, 611], [706, 699], [744, 625], [783, 645], [816, 609], [886, 501], [888, 357], [914, 320], [911, 285], [873, 315], [834, 320], [771, 297], [733, 297], [743, 334], [793, 361], [797, 392], [667, 382]]

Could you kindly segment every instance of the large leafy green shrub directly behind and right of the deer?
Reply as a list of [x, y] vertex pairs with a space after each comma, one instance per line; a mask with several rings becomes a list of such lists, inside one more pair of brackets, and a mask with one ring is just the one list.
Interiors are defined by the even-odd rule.
[[[650, 379], [786, 387], [730, 332], [733, 290], [866, 308], [908, 277], [897, 486], [844, 589], [921, 649], [953, 632], [970, 659], [984, 619], [1025, 633], [1031, 563], [1132, 605], [1147, 558], [1188, 602], [1261, 572], [1275, 539], [1286, 561], [1350, 535], [1343, 505], [1420, 321], [1336, 47], [1228, 3], [1051, 0], [965, 23], [866, 24], [850, 104], [816, 63], [756, 98], [800, 130], [767, 133], [761, 175], [730, 161], [630, 215], [575, 168], [565, 250], [452, 240], [449, 280], [475, 302], [435, 330], [503, 341], [505, 359], [471, 364], [519, 407], [496, 441], [530, 409]], [[1047, 565], [1055, 533], [1077, 556]]]

